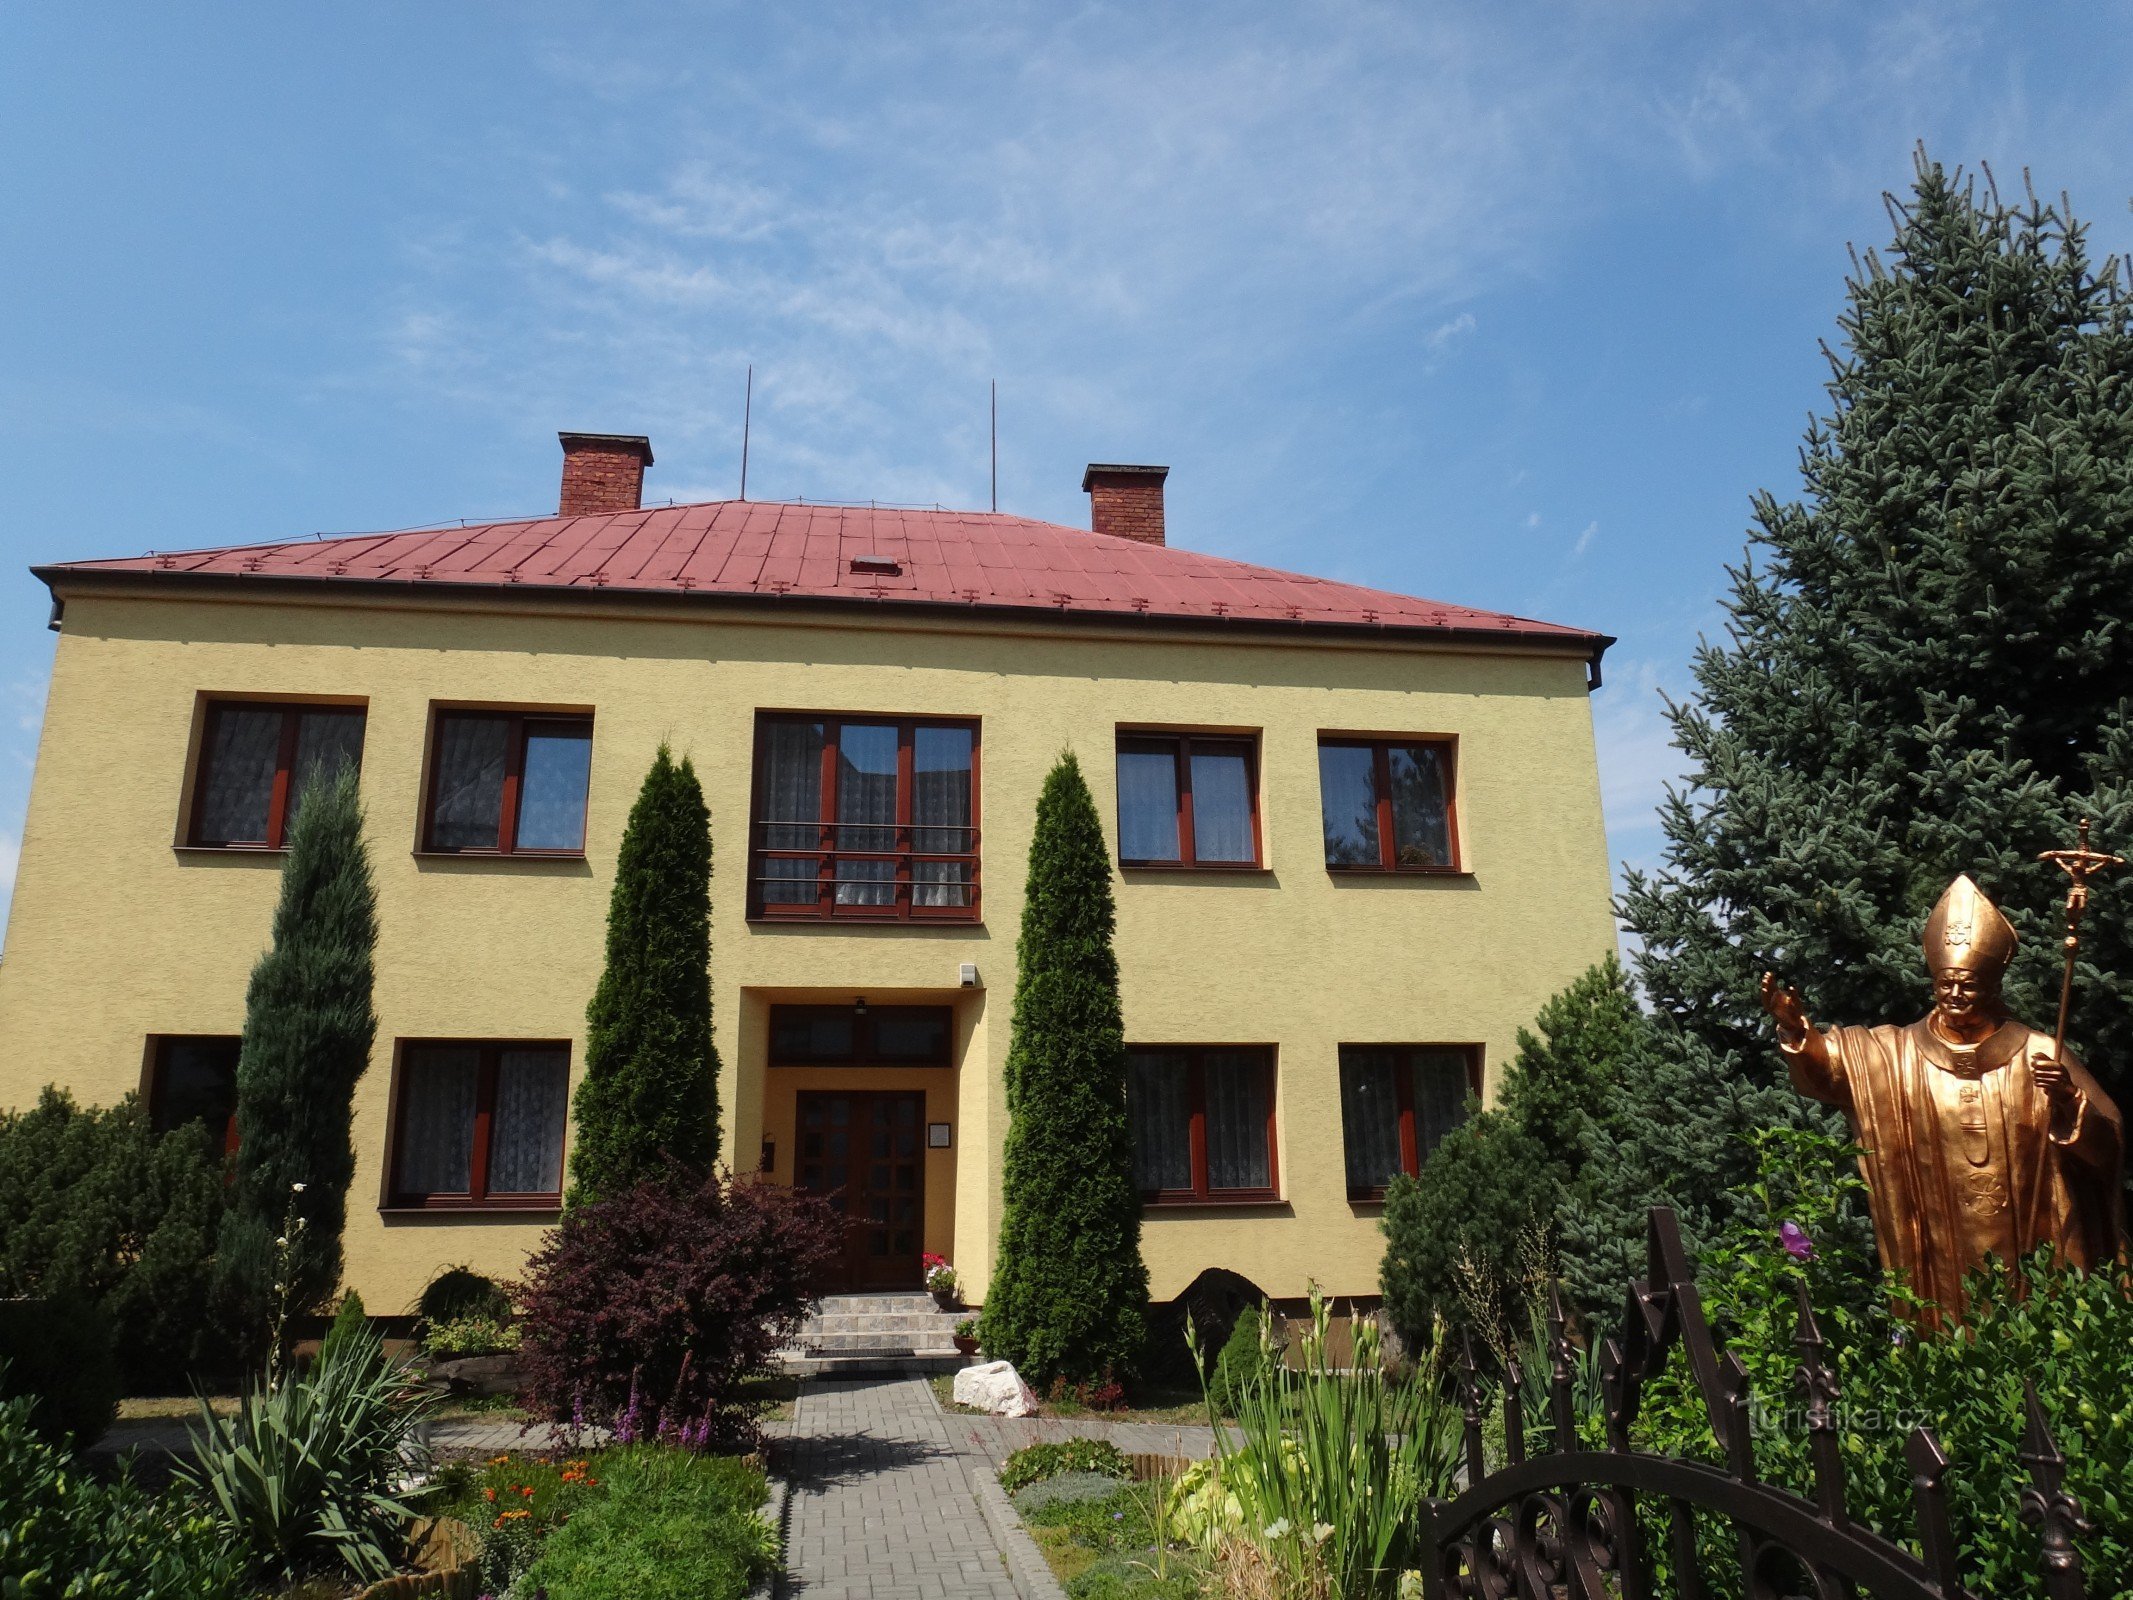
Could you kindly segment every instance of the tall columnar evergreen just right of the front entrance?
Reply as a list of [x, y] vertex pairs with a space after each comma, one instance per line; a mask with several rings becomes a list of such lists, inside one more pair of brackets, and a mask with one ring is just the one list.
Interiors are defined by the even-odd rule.
[[1128, 1376], [1148, 1318], [1111, 853], [1071, 753], [1030, 838], [1007, 1045], [1000, 1250], [979, 1338], [1032, 1382]]

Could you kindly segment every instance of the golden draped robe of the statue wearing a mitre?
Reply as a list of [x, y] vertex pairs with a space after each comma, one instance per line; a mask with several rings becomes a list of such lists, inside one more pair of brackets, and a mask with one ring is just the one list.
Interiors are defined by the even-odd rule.
[[2118, 1254], [2124, 1124], [2071, 1052], [2080, 1097], [2054, 1111], [2031, 1067], [2050, 1035], [2009, 1020], [1956, 1045], [1924, 1018], [1822, 1039], [1828, 1067], [1785, 1052], [1792, 1084], [1849, 1114], [1881, 1265], [1947, 1316], [1962, 1316], [1962, 1276], [1988, 1254], [2011, 1263], [2054, 1244], [2078, 1267]]

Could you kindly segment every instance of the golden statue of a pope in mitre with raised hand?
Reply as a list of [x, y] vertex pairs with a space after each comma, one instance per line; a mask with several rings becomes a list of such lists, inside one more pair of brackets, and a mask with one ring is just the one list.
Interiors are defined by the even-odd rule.
[[1777, 1047], [1802, 1094], [1841, 1105], [1864, 1154], [1881, 1265], [1962, 1318], [1962, 1276], [2056, 1246], [2078, 1267], [2124, 1231], [2118, 1107], [2052, 1035], [2007, 1015], [2016, 934], [1969, 877], [1926, 919], [1932, 1011], [1907, 1026], [1809, 1024], [1800, 996], [1762, 979]]

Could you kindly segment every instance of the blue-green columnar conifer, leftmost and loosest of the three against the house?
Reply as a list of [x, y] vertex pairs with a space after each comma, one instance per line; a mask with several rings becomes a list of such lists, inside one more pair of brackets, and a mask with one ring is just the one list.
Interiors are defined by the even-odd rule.
[[[230, 1327], [247, 1357], [264, 1353], [282, 1295], [290, 1310], [305, 1312], [341, 1280], [341, 1229], [356, 1169], [350, 1122], [378, 1033], [375, 947], [378, 894], [363, 845], [363, 802], [354, 770], [341, 768], [305, 787], [282, 864], [273, 943], [245, 992], [237, 1165], [218, 1265]], [[303, 1227], [284, 1233], [290, 1216]], [[284, 1250], [288, 1278], [277, 1274]]]

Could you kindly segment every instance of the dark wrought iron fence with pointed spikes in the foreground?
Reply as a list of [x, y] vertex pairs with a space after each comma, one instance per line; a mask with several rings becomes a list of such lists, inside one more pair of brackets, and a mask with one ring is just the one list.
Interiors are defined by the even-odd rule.
[[[1561, 1301], [1549, 1308], [1549, 1449], [1525, 1446], [1525, 1374], [1512, 1359], [1504, 1374], [1504, 1466], [1482, 1459], [1482, 1391], [1472, 1350], [1465, 1357], [1465, 1491], [1427, 1506], [1433, 1564], [1423, 1572], [1429, 1600], [1706, 1600], [1698, 1557], [1698, 1513], [1730, 1525], [1730, 1559], [1751, 1600], [1986, 1600], [1967, 1587], [1947, 1519], [1947, 1453], [1930, 1427], [1911, 1429], [1911, 1508], [1924, 1559], [1860, 1527], [1845, 1510], [1845, 1470], [1837, 1440], [1837, 1370], [1824, 1357], [1815, 1312], [1800, 1291], [1796, 1382], [1805, 1399], [1815, 1493], [1802, 1500], [1755, 1476], [1747, 1367], [1719, 1350], [1681, 1246], [1681, 1227], [1664, 1205], [1651, 1212], [1647, 1278], [1630, 1286], [1623, 1331], [1602, 1346], [1604, 1449], [1578, 1442], [1572, 1397], [1576, 1350]], [[1681, 1350], [1726, 1455], [1726, 1466], [1630, 1449], [1645, 1385]], [[2052, 1442], [2035, 1385], [2028, 1389], [2022, 1463], [2031, 1487], [2009, 1515], [2039, 1527], [2041, 1577], [2050, 1600], [2086, 1600], [2075, 1534], [2088, 1532], [2080, 1502], [2063, 1487], [2067, 1459]], [[1672, 1581], [1653, 1587], [1655, 1551], [1647, 1549], [1642, 1510], [1664, 1521]]]

